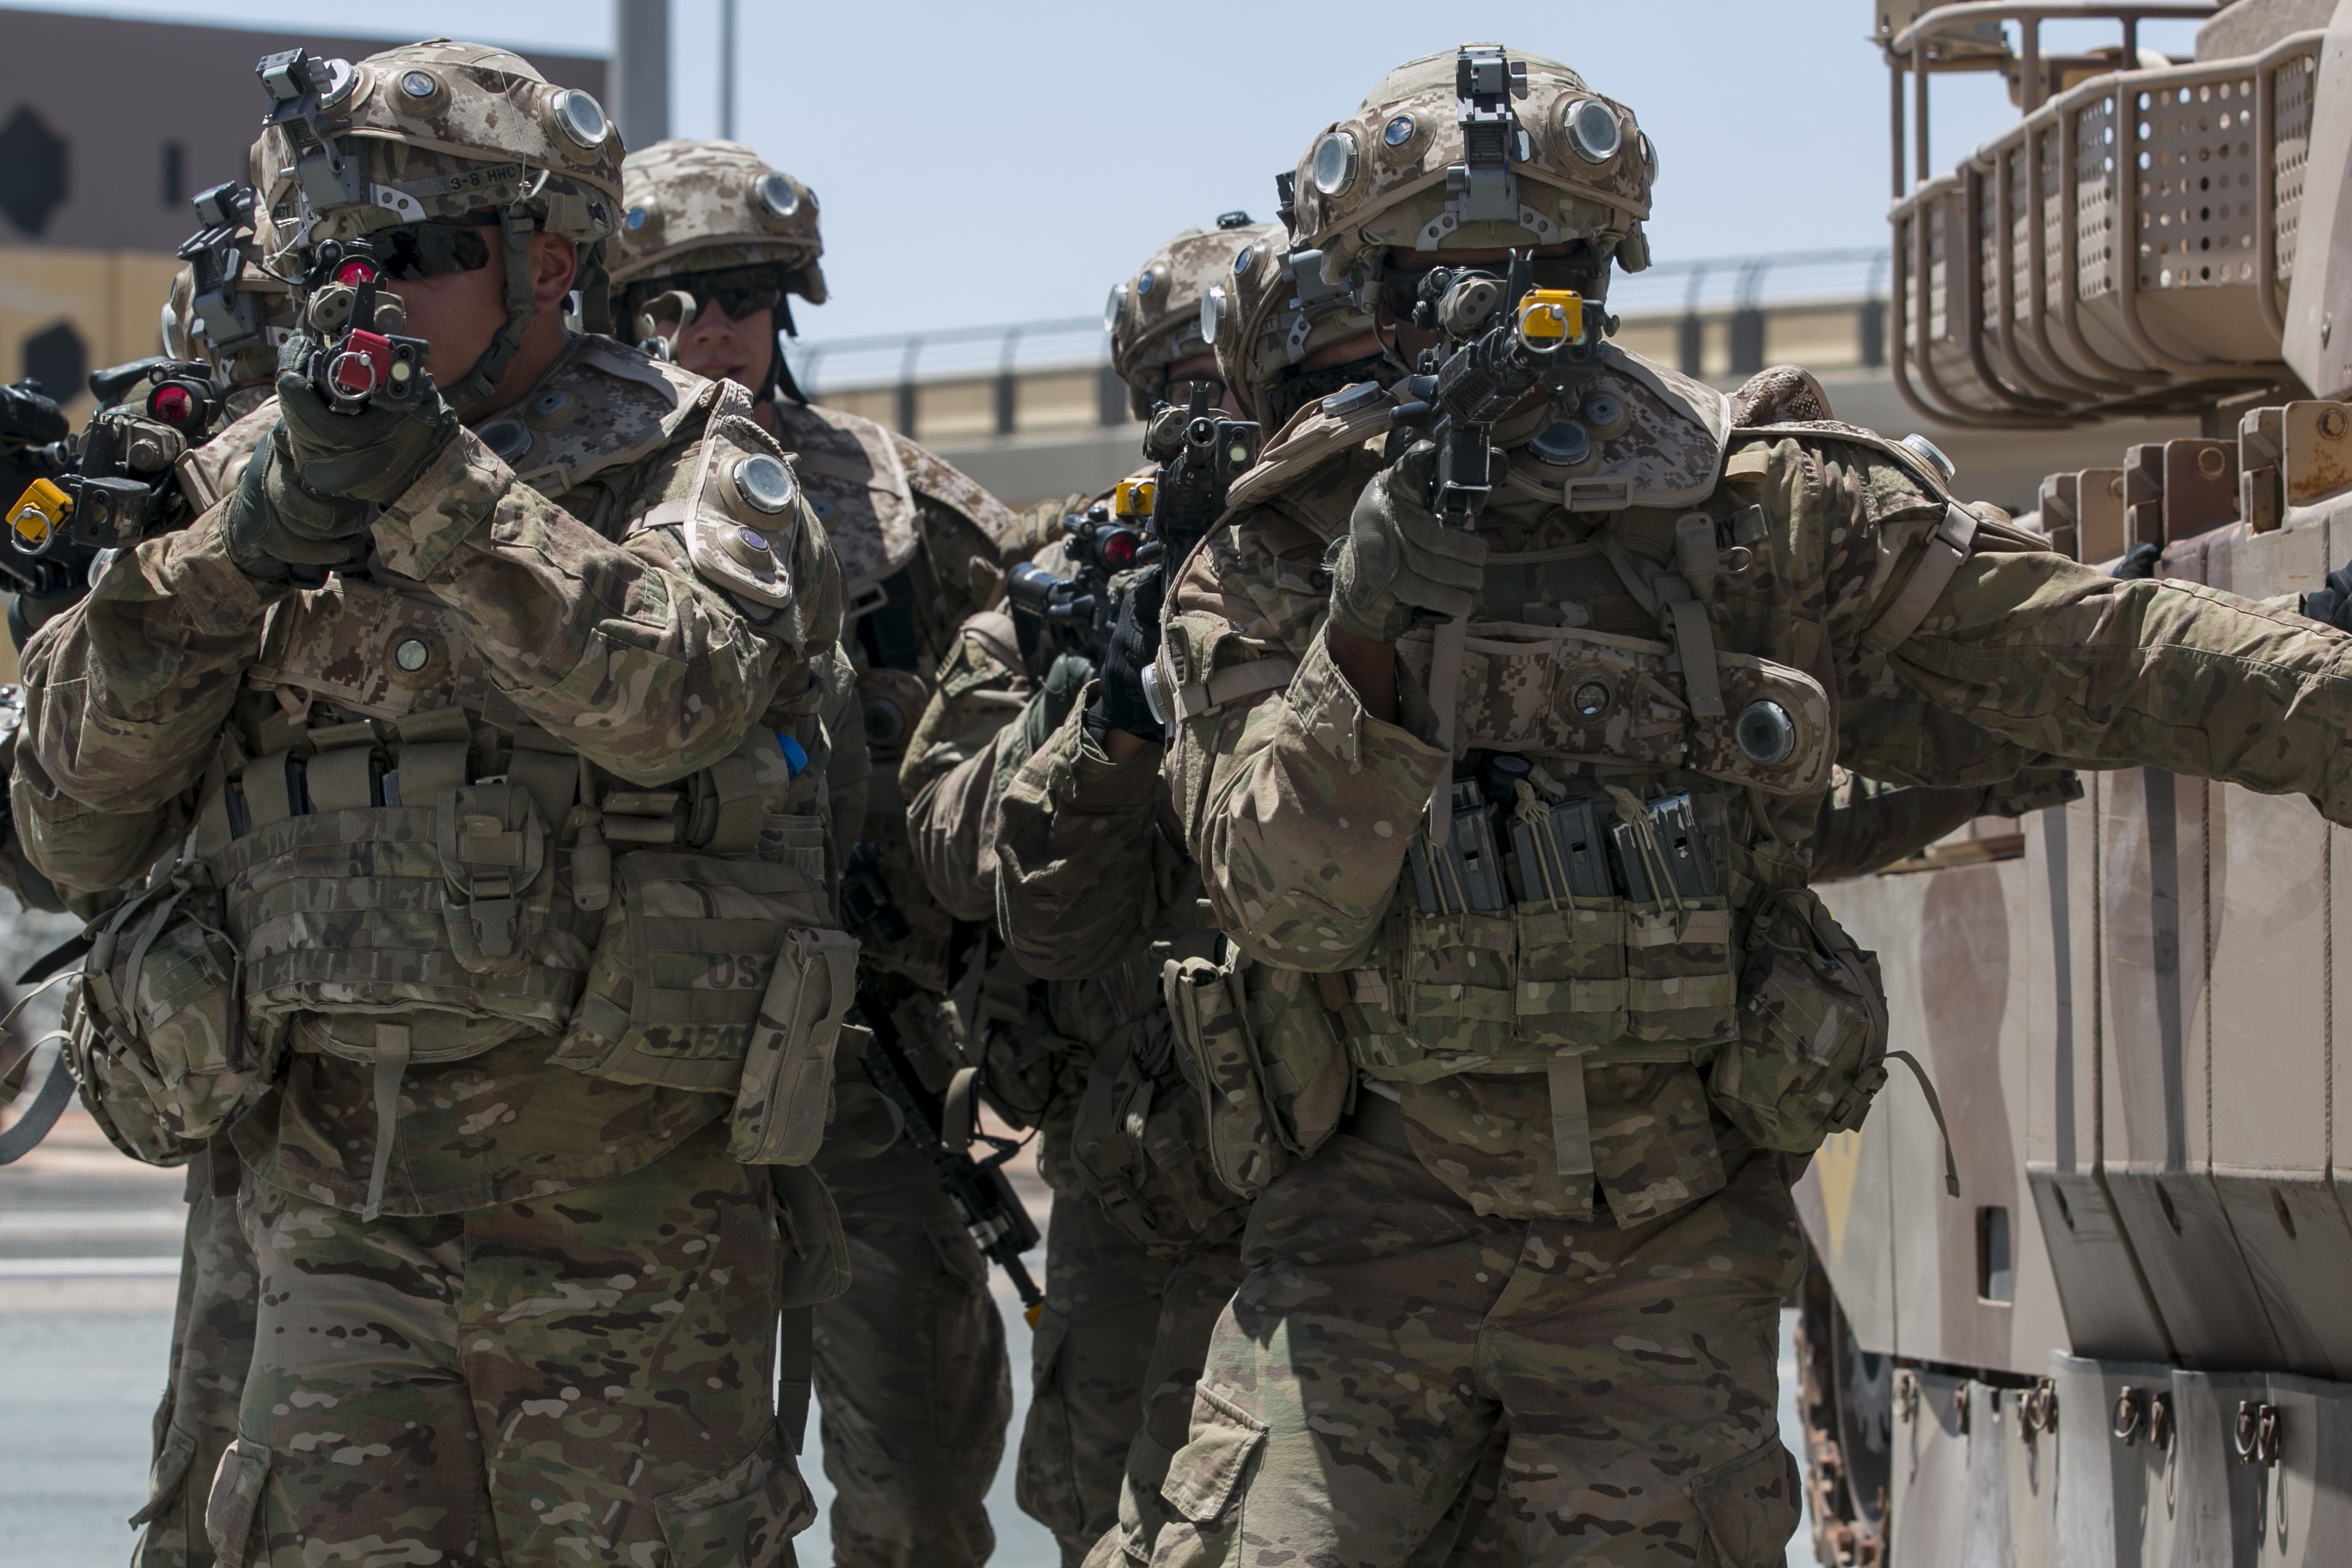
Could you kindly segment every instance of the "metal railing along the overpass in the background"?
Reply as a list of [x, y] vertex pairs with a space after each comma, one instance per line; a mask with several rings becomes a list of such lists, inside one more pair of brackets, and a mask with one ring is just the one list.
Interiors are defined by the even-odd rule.
[[[1764, 367], [1766, 315], [1792, 306], [1853, 310], [1853, 362], [1886, 362], [1884, 247], [1778, 252], [1665, 261], [1611, 280], [1609, 308], [1628, 324], [1658, 329], [1672, 322], [1670, 353], [1684, 374], [1729, 369], [1748, 376]], [[1726, 353], [1710, 355], [1708, 334], [1726, 334]], [[1110, 371], [1110, 334], [1101, 317], [1075, 315], [997, 327], [858, 339], [786, 341], [795, 381], [811, 395], [858, 395], [875, 416], [915, 430], [922, 388], [964, 383], [971, 395], [988, 383], [995, 435], [1021, 430], [1023, 381], [1091, 376], [1091, 409], [1101, 425], [1129, 421], [1127, 388]], [[1651, 353], [1658, 353], [1658, 343]]]

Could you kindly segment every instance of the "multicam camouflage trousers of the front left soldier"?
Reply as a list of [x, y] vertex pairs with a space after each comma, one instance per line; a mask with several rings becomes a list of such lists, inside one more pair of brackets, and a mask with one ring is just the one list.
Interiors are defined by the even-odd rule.
[[814, 1509], [774, 1408], [767, 1173], [713, 1124], [628, 1175], [381, 1218], [245, 1182], [254, 1366], [226, 1568], [776, 1568]]

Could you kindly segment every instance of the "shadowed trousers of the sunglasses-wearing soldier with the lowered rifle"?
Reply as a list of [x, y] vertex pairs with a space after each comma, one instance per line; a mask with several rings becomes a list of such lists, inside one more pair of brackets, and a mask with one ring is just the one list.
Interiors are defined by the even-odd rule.
[[988, 1260], [903, 1138], [816, 1157], [849, 1239], [849, 1291], [816, 1307], [816, 1408], [840, 1568], [978, 1568], [1011, 1425]]

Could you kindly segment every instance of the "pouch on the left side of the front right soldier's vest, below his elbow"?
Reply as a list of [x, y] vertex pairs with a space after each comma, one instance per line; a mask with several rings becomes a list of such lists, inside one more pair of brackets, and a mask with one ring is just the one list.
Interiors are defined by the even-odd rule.
[[[1336, 976], [1171, 959], [1162, 971], [1176, 1065], [1202, 1105], [1209, 1166], [1256, 1197], [1338, 1128], [1355, 1079], [1324, 990]], [[1336, 990], [1336, 987], [1334, 987]]]

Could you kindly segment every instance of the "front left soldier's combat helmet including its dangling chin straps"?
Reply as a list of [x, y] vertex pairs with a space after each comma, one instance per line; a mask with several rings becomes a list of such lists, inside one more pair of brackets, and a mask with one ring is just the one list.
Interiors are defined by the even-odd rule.
[[[273, 273], [299, 277], [322, 242], [386, 230], [383, 270], [395, 292], [407, 266], [480, 266], [473, 247], [485, 242], [503, 252], [506, 327], [456, 386], [442, 388], [452, 407], [499, 386], [536, 315], [532, 233], [581, 244], [576, 284], [590, 327], [602, 322], [602, 242], [621, 219], [621, 134], [593, 96], [550, 85], [520, 54], [447, 38], [358, 66], [289, 49], [263, 59], [259, 75], [270, 113], [252, 179]], [[496, 233], [435, 228], [480, 214], [499, 219]]]

